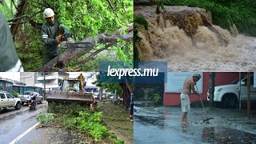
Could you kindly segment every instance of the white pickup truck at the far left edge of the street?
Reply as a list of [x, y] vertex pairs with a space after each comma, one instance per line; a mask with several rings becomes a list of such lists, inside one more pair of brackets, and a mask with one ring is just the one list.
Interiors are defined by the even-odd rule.
[[0, 91], [0, 108], [14, 107], [16, 110], [19, 110], [21, 106], [22, 101], [20, 98], [14, 98], [10, 93]]

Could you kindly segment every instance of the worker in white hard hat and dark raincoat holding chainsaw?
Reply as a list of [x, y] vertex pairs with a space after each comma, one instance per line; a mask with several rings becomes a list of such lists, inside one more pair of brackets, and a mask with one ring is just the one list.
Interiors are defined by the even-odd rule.
[[71, 35], [60, 22], [54, 19], [54, 10], [47, 8], [43, 11], [43, 17], [46, 18], [46, 24], [42, 25], [43, 40], [43, 65], [50, 62], [59, 53], [58, 44], [66, 35]]

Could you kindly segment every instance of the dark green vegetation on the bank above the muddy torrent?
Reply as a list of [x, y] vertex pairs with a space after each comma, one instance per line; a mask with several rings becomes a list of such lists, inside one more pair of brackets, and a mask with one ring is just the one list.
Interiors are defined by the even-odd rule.
[[201, 7], [210, 11], [214, 25], [230, 30], [235, 24], [240, 34], [256, 36], [256, 1], [250, 0], [165, 0], [166, 6]]

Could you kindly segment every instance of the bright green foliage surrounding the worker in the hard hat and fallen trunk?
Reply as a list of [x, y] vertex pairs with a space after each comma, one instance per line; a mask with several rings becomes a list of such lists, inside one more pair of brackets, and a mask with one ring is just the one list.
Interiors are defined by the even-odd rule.
[[[25, 71], [37, 70], [42, 67], [41, 26], [46, 23], [46, 19], [42, 17], [42, 11], [47, 7], [54, 10], [55, 20], [70, 29], [77, 41], [87, 37], [97, 39], [97, 34], [111, 34], [133, 22], [132, 0], [31, 0], [26, 2], [25, 10], [22, 11], [22, 22], [25, 23], [19, 25], [14, 37], [18, 56], [22, 60]], [[14, 0], [14, 4], [19, 7], [19, 1]], [[17, 10], [14, 4], [11, 0], [6, 0], [3, 5], [0, 5], [0, 10], [5, 14], [7, 20], [15, 17]], [[114, 46], [94, 56], [90, 62], [78, 66], [78, 62], [104, 46], [106, 44], [98, 44], [90, 53], [72, 60], [67, 67], [68, 70], [98, 70], [99, 61], [133, 61], [133, 44], [120, 40]], [[109, 55], [110, 53], [113, 54]]]

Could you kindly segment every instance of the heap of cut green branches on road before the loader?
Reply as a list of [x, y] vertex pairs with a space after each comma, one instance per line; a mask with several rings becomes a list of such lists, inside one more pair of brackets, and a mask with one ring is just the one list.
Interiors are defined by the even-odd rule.
[[58, 105], [54, 102], [48, 107], [48, 114], [39, 114], [38, 122], [42, 125], [57, 125], [68, 130], [86, 132], [95, 141], [109, 138], [112, 143], [123, 143], [102, 124], [102, 112], [90, 110], [89, 107], [77, 103]]

